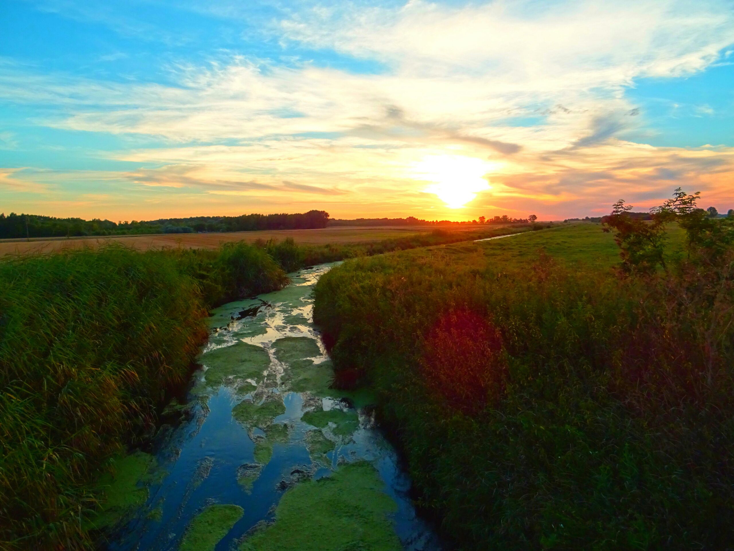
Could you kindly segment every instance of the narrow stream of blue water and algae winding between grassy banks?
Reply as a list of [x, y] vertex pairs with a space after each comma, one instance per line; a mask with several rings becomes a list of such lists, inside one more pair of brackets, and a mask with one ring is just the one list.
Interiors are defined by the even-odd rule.
[[[214, 504], [241, 508], [217, 551], [269, 549], [256, 542], [247, 547], [248, 541], [258, 529], [264, 537], [264, 527], [277, 527], [281, 498], [301, 485], [315, 488], [312, 480], [338, 478], [350, 464], [374, 467], [377, 489], [371, 491], [389, 497], [380, 494], [389, 505], [382, 522], [395, 544], [379, 549], [440, 549], [415, 514], [395, 450], [363, 407], [368, 397], [328, 389], [333, 369], [311, 321], [311, 289], [335, 264], [301, 270], [285, 289], [212, 313], [204, 367], [195, 373], [189, 403], [169, 411], [186, 421], [161, 431], [148, 500], [110, 550], [178, 550], [192, 520]], [[339, 495], [349, 492], [347, 486]], [[306, 511], [306, 522], [322, 521], [322, 508]], [[339, 549], [373, 549], [355, 545]], [[321, 549], [318, 542], [311, 548]]]

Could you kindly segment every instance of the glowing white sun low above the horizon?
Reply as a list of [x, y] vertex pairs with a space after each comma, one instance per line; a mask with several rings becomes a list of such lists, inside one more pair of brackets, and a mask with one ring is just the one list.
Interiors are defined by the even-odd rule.
[[486, 174], [494, 163], [462, 155], [428, 155], [415, 163], [415, 177], [435, 182], [425, 191], [435, 193], [449, 209], [461, 209], [476, 197], [490, 190]]

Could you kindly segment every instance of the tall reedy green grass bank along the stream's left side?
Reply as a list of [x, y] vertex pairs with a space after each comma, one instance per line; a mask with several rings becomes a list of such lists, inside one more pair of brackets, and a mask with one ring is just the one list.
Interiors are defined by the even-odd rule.
[[305, 265], [528, 228], [4, 257], [0, 547], [91, 547], [83, 526], [96, 508], [94, 480], [113, 455], [149, 438], [156, 412], [185, 386], [212, 307], [278, 289]]

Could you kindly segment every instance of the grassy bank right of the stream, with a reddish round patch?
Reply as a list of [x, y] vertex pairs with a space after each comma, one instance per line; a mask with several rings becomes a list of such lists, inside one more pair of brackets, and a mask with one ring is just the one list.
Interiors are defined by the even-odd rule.
[[730, 544], [733, 258], [688, 264], [669, 235], [669, 272], [646, 278], [619, 277], [595, 225], [321, 278], [338, 381], [376, 390], [459, 549]]

